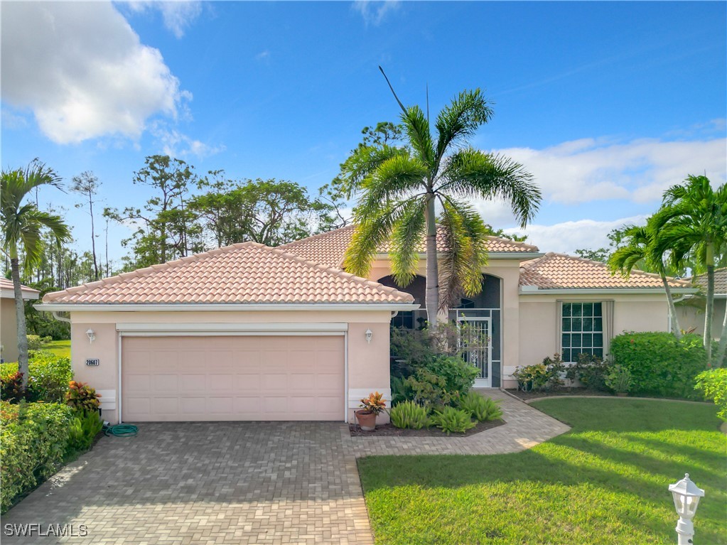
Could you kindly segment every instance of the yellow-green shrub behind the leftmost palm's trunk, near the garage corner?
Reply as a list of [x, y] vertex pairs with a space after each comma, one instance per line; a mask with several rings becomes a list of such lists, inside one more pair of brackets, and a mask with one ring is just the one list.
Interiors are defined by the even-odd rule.
[[[61, 358], [52, 352], [31, 352], [28, 357], [28, 389], [25, 398], [28, 401], [45, 401], [47, 403], [63, 403], [68, 382], [73, 379], [71, 360]], [[17, 373], [17, 363], [0, 365], [0, 381]], [[3, 396], [3, 399], [5, 397]]]

